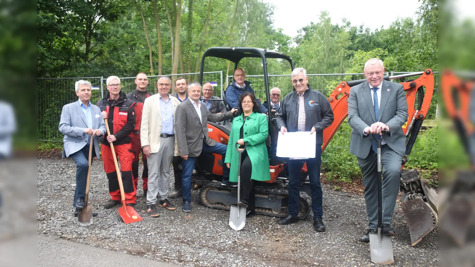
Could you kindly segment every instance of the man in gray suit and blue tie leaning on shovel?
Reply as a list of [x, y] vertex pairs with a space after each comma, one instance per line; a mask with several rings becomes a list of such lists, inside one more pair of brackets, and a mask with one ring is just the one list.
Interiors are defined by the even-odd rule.
[[404, 88], [398, 83], [383, 80], [384, 65], [378, 58], [364, 64], [368, 82], [353, 86], [348, 97], [348, 124], [353, 128], [350, 153], [358, 157], [363, 172], [364, 199], [369, 219], [369, 230], [360, 238], [370, 241], [369, 233], [377, 233], [378, 180], [376, 138], [387, 131], [381, 143], [382, 229], [381, 233], [393, 236], [392, 215], [399, 193], [402, 156], [406, 151], [406, 137], [402, 125], [408, 120], [408, 104]]

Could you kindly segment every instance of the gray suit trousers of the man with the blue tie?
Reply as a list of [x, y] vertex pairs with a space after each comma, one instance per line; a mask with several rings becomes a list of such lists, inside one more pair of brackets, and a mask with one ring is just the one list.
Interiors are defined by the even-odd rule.
[[[382, 223], [390, 224], [396, 206], [401, 178], [402, 157], [388, 145], [381, 147], [382, 179]], [[378, 225], [378, 155], [370, 150], [366, 159], [358, 158], [358, 165], [363, 172], [364, 200], [370, 221], [370, 229]]]

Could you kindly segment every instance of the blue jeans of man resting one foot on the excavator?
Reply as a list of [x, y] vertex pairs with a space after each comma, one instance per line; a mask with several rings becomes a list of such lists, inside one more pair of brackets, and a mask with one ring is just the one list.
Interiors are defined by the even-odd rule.
[[[227, 145], [217, 143], [215, 146], [209, 146], [203, 142], [203, 149], [201, 153], [207, 154], [220, 154], [224, 158], [226, 157]], [[181, 194], [183, 195], [183, 201], [191, 202], [191, 175], [193, 174], [193, 168], [195, 167], [196, 157], [188, 157], [188, 160], [181, 160], [181, 166], [183, 172], [181, 173]], [[223, 163], [223, 177], [229, 178], [229, 169], [226, 164]]]

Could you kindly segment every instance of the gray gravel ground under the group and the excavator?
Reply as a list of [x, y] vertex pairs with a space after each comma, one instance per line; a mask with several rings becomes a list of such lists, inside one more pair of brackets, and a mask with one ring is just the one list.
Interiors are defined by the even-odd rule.
[[[254, 216], [241, 231], [228, 226], [229, 212], [199, 203], [192, 191], [192, 211], [181, 211], [182, 199], [171, 199], [177, 210], [160, 208], [152, 218], [145, 200], [137, 199], [143, 220], [124, 224], [117, 208], [106, 210], [109, 199], [103, 164], [93, 163], [89, 201], [99, 213], [93, 225], [79, 227], [72, 216], [76, 166], [70, 159], [38, 159], [38, 234], [65, 238], [101, 248], [130, 253], [181, 266], [373, 266], [368, 244], [359, 238], [367, 228], [362, 195], [345, 194], [323, 187], [323, 221], [326, 232], [317, 233], [312, 220], [278, 225], [277, 218]], [[171, 172], [173, 170], [171, 169]], [[171, 186], [172, 186], [171, 177]], [[139, 184], [141, 183], [139, 179]], [[137, 194], [142, 196], [142, 190]], [[437, 229], [410, 246], [402, 211], [396, 208], [392, 223], [394, 266], [437, 266]]]

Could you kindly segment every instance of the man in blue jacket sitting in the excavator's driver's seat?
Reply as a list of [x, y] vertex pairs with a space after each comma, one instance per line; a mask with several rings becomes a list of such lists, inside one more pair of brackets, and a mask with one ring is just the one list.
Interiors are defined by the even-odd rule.
[[[239, 96], [241, 96], [245, 91], [254, 94], [254, 90], [251, 88], [251, 82], [246, 81], [246, 73], [242, 68], [237, 68], [234, 71], [233, 82], [228, 86], [228, 88], [226, 88], [226, 101], [228, 102], [229, 107], [237, 108], [239, 106], [239, 103], [237, 103]], [[257, 103], [259, 103], [261, 113], [266, 114], [267, 109], [261, 104], [259, 99], [257, 99]]]

